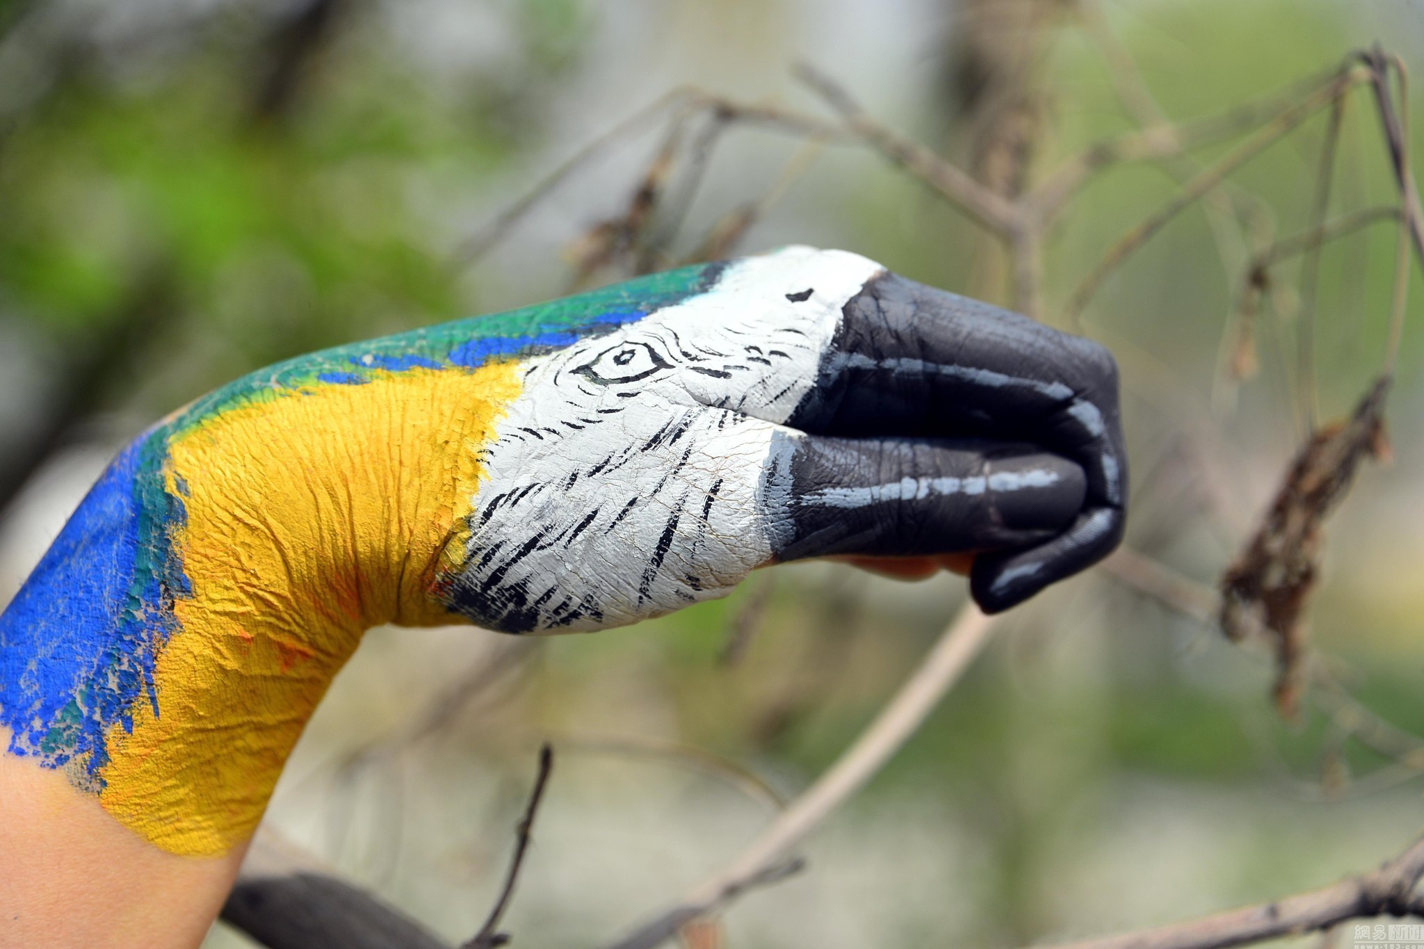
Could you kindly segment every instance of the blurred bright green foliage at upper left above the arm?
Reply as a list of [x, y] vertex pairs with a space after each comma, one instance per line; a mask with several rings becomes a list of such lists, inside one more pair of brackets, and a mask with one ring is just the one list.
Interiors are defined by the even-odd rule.
[[[511, 11], [525, 83], [572, 63], [580, 9]], [[188, 327], [150, 353], [198, 336], [209, 364], [148, 414], [276, 359], [464, 316], [416, 182], [473, 193], [517, 154], [510, 124], [413, 71], [360, 7], [337, 28], [298, 73], [289, 117], [253, 112], [268, 31], [232, 18], [137, 77], [63, 73], [0, 141], [10, 312], [73, 343], [128, 310], [135, 275], [171, 275]]]

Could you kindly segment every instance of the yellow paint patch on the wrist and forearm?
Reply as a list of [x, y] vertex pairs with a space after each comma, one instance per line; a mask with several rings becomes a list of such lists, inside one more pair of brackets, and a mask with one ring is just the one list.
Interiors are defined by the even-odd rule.
[[177, 854], [252, 834], [362, 632], [451, 622], [430, 589], [459, 566], [478, 452], [518, 391], [513, 363], [386, 373], [225, 411], [169, 445], [192, 599], [157, 662], [161, 714], [140, 701], [132, 734], [108, 737], [110, 814]]

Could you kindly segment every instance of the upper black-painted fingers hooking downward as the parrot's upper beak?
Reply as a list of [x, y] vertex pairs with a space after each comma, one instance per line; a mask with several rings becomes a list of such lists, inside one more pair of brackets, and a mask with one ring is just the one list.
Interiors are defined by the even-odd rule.
[[1022, 602], [1122, 538], [1126, 452], [1112, 356], [1017, 313], [881, 273], [843, 307], [817, 384], [789, 424], [1022, 440], [1081, 465], [1084, 509], [1062, 538], [975, 566], [985, 609]]

